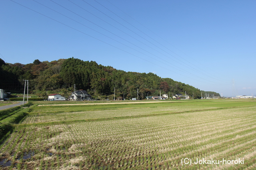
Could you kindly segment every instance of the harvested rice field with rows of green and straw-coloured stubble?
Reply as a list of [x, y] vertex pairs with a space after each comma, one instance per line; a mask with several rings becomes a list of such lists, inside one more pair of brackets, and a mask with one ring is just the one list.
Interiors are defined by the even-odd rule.
[[[42, 102], [41, 102], [42, 103]], [[256, 100], [31, 107], [2, 169], [255, 169]], [[181, 163], [191, 158], [192, 164]], [[194, 164], [196, 159], [243, 164]]]

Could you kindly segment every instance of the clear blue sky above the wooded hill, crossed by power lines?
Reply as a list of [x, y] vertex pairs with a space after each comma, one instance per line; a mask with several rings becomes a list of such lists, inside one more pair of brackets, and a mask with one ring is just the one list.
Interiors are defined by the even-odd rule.
[[255, 9], [255, 0], [1, 0], [0, 58], [74, 57], [251, 96]]

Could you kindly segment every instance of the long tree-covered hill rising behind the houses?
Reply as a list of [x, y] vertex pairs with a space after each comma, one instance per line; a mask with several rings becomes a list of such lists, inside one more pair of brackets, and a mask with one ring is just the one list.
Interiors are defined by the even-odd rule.
[[[194, 98], [201, 98], [201, 91], [193, 86], [176, 82], [171, 78], [161, 78], [153, 73], [125, 72], [111, 66], [102, 66], [95, 61], [80, 59], [59, 59], [58, 61], [35, 60], [30, 64], [5, 63], [0, 59], [0, 89], [6, 91], [21, 91], [24, 89], [24, 80], [29, 80], [30, 93], [40, 97], [59, 93], [69, 96], [76, 89], [86, 90], [95, 98], [116, 97], [126, 99], [136, 98], [137, 89], [139, 99], [161, 94], [186, 93]], [[203, 94], [204, 97], [205, 94]], [[216, 95], [217, 96], [217, 95]], [[220, 96], [220, 95], [218, 95]]]

